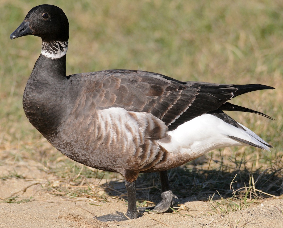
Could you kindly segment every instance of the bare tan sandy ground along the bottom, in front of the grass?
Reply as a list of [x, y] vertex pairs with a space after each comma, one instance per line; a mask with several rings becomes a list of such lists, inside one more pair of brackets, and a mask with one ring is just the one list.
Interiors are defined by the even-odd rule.
[[[123, 222], [100, 222], [95, 216], [126, 212], [127, 205], [121, 200], [90, 205], [89, 201], [72, 200], [50, 194], [44, 183], [50, 178], [40, 170], [35, 161], [5, 162], [0, 165], [1, 177], [12, 171], [24, 179], [0, 179], [0, 199], [11, 196], [31, 198], [25, 203], [0, 203], [0, 227], [5, 228], [61, 228], [61, 227], [283, 227], [283, 200], [267, 199], [254, 207], [231, 212], [225, 216], [202, 215], [208, 210], [207, 201], [181, 199], [190, 208], [192, 217], [180, 214], [156, 214], [145, 212], [138, 219]], [[1, 200], [0, 200], [1, 202]], [[186, 212], [188, 213], [188, 212]]]

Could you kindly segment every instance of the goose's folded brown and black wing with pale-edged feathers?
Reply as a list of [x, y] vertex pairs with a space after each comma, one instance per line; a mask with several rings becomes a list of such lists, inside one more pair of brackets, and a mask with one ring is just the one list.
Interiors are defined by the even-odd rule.
[[82, 73], [71, 75], [69, 79], [83, 86], [97, 110], [119, 107], [132, 112], [148, 112], [162, 120], [169, 131], [204, 113], [218, 108], [227, 109], [229, 105], [221, 109], [222, 105], [237, 95], [272, 88], [263, 85], [181, 82], [161, 74], [134, 70]]

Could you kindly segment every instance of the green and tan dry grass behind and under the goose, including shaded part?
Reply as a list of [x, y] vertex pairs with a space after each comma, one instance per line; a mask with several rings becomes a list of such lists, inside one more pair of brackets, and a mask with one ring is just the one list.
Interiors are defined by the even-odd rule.
[[[170, 171], [175, 209], [189, 215], [186, 197], [208, 201], [203, 214], [226, 214], [282, 198], [283, 5], [281, 1], [49, 1], [70, 22], [67, 73], [103, 69], [142, 69], [180, 80], [261, 83], [276, 90], [235, 99], [277, 121], [247, 113], [229, 113], [274, 148], [271, 153], [239, 147], [213, 151]], [[0, 165], [35, 160], [52, 179], [44, 190], [94, 205], [127, 199], [121, 175], [93, 171], [53, 149], [29, 124], [22, 93], [40, 53], [40, 39], [9, 40], [38, 1], [0, 0]], [[0, 178], [19, 178], [18, 173]], [[138, 199], [150, 205], [160, 197], [156, 174], [141, 175]], [[115, 190], [113, 190], [115, 189]], [[148, 201], [143, 202], [144, 199]], [[3, 199], [9, 203], [23, 199]], [[28, 199], [26, 200], [28, 201]], [[178, 206], [179, 205], [179, 206]]]

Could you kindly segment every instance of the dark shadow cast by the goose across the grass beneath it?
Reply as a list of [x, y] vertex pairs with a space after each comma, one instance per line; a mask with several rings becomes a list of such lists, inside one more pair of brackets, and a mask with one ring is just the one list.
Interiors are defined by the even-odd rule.
[[[207, 201], [224, 199], [233, 196], [233, 189], [237, 197], [249, 191], [254, 198], [270, 197], [262, 192], [280, 196], [283, 194], [283, 169], [273, 170], [207, 170], [200, 166], [181, 166], [168, 170], [172, 192], [178, 197], [176, 204], [188, 201]], [[253, 180], [253, 181], [252, 181]], [[233, 189], [230, 189], [232, 183]], [[254, 183], [254, 185], [252, 184]], [[137, 179], [136, 199], [158, 203], [161, 200], [161, 184], [159, 173], [143, 173]], [[251, 186], [252, 189], [248, 190]], [[109, 181], [102, 185], [109, 196], [119, 196], [127, 200], [127, 191], [122, 181]], [[254, 190], [260, 190], [255, 191]], [[220, 195], [220, 196], [219, 196]]]

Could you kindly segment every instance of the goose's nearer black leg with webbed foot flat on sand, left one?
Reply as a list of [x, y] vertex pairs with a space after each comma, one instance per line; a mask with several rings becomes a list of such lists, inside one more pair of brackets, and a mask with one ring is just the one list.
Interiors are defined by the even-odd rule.
[[[125, 186], [128, 193], [128, 210], [127, 216], [130, 219], [138, 218], [138, 211], [136, 206], [136, 181], [128, 182], [125, 180]], [[124, 221], [128, 218], [121, 212], [117, 212], [117, 214], [107, 214], [103, 216], [97, 217], [97, 220], [102, 222], [112, 222], [112, 221]]]

